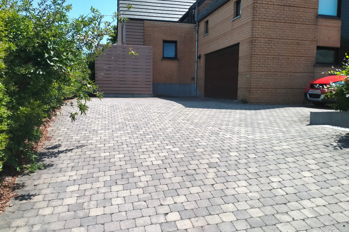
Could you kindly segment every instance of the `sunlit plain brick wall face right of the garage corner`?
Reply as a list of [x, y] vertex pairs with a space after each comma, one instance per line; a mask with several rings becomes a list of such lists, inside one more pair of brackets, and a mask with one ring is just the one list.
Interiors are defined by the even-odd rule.
[[341, 21], [317, 18], [318, 0], [256, 0], [253, 12], [253, 103], [303, 103], [303, 89], [319, 70], [317, 46], [340, 46]]

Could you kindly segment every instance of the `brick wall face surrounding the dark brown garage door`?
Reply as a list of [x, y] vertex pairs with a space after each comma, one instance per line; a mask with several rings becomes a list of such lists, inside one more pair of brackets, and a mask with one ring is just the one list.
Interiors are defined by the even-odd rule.
[[[198, 62], [198, 87], [201, 96], [205, 92], [205, 54], [239, 43], [238, 99], [250, 97], [251, 52], [252, 52], [252, 13], [253, 0], [243, 0], [241, 15], [235, 19], [235, 1], [229, 1], [200, 22]], [[208, 34], [205, 22], [208, 20]]]

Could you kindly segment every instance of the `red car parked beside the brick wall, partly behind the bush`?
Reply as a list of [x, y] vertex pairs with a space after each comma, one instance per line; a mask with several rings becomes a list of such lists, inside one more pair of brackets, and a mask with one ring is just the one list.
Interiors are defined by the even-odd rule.
[[334, 84], [341, 84], [345, 76], [326, 76], [320, 79], [314, 79], [309, 82], [309, 85], [304, 89], [304, 99], [313, 103], [315, 106], [324, 106], [326, 103], [335, 103], [331, 98], [325, 98], [325, 86], [330, 82]]

